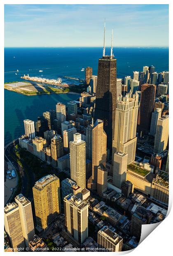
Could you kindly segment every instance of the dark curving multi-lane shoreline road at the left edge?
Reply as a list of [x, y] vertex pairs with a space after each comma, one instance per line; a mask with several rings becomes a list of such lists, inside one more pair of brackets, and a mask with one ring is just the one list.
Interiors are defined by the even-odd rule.
[[[23, 194], [24, 196], [26, 196], [27, 190], [29, 191], [28, 193], [28, 200], [33, 201], [33, 190], [32, 187], [35, 183], [35, 179], [33, 176], [33, 173], [29, 171], [28, 168], [28, 172], [29, 172], [29, 176], [30, 176], [30, 182], [28, 182], [27, 180], [27, 175], [26, 175], [26, 171], [25, 169], [23, 169], [22, 166], [20, 166], [17, 161], [12, 158], [12, 156], [10, 154], [13, 154], [13, 149], [14, 146], [18, 144], [18, 139], [14, 140], [13, 142], [9, 143], [6, 147], [5, 147], [5, 161], [9, 161], [12, 166], [14, 166], [15, 169], [19, 170], [20, 176], [21, 176], [21, 194]], [[21, 161], [22, 162], [22, 161]], [[29, 188], [28, 188], [29, 185]]]

